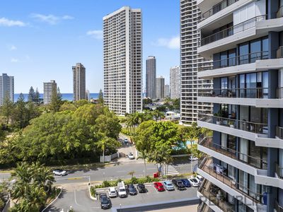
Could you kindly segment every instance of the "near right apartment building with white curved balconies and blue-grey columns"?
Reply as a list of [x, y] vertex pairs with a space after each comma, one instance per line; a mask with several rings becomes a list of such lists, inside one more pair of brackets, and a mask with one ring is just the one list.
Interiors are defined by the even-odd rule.
[[[213, 80], [197, 100], [213, 104], [198, 126], [207, 157], [199, 211], [283, 210], [283, 2], [197, 1], [197, 52], [213, 59], [197, 76]], [[219, 4], [217, 4], [219, 3]]]

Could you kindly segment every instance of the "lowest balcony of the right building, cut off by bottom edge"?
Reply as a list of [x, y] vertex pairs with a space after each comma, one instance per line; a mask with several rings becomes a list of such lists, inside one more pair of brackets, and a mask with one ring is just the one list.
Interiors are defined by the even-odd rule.
[[205, 203], [214, 211], [234, 212], [233, 205], [229, 204], [229, 202], [224, 199], [224, 196], [221, 196], [220, 200], [216, 199], [216, 195], [219, 191], [222, 193], [219, 187], [216, 187], [207, 179], [204, 179], [202, 186], [198, 189], [198, 196], [200, 196], [200, 199], [204, 197]]

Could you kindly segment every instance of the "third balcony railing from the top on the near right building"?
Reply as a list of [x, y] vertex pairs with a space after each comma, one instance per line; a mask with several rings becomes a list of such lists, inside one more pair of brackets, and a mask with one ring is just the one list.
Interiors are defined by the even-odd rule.
[[[278, 54], [278, 53], [277, 53]], [[230, 57], [227, 59], [216, 60], [212, 62], [211, 66], [198, 66], [198, 71], [207, 71], [213, 69], [221, 69], [231, 66], [238, 66], [243, 64], [252, 64], [257, 60], [268, 59], [269, 52], [253, 52], [250, 54], [245, 54], [237, 57]]]

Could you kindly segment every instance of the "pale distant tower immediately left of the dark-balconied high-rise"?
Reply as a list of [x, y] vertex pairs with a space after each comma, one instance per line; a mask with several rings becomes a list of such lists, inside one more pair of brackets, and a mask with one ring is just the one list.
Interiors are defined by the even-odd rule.
[[180, 98], [181, 76], [180, 66], [170, 68], [170, 95], [171, 99]]

